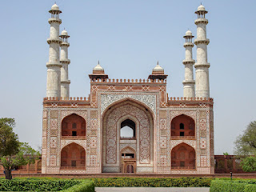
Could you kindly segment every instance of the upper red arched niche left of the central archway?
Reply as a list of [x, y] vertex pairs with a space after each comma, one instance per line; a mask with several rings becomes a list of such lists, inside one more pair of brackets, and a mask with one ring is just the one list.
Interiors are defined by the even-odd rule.
[[62, 120], [62, 137], [86, 137], [86, 120], [78, 114], [70, 114]]

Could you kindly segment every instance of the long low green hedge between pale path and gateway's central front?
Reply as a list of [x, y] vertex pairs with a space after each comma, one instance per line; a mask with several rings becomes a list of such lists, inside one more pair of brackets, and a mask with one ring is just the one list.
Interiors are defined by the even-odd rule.
[[147, 186], [147, 187], [170, 187], [170, 186], [210, 186], [212, 178], [94, 178], [95, 186]]

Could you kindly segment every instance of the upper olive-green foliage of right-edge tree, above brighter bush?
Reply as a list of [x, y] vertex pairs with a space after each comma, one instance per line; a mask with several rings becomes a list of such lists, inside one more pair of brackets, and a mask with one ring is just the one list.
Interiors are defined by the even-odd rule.
[[256, 154], [256, 121], [250, 122], [243, 134], [240, 134], [234, 142], [235, 154], [254, 155]]

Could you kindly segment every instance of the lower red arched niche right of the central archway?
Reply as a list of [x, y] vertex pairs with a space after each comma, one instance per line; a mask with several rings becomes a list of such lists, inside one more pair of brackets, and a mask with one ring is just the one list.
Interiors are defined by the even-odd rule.
[[195, 169], [196, 153], [192, 146], [182, 142], [171, 150], [171, 168], [180, 170]]

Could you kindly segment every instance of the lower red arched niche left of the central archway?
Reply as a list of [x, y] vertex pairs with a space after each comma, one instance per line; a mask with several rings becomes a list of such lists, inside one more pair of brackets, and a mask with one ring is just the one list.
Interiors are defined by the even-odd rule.
[[85, 169], [86, 150], [77, 143], [70, 143], [62, 148], [61, 169]]

